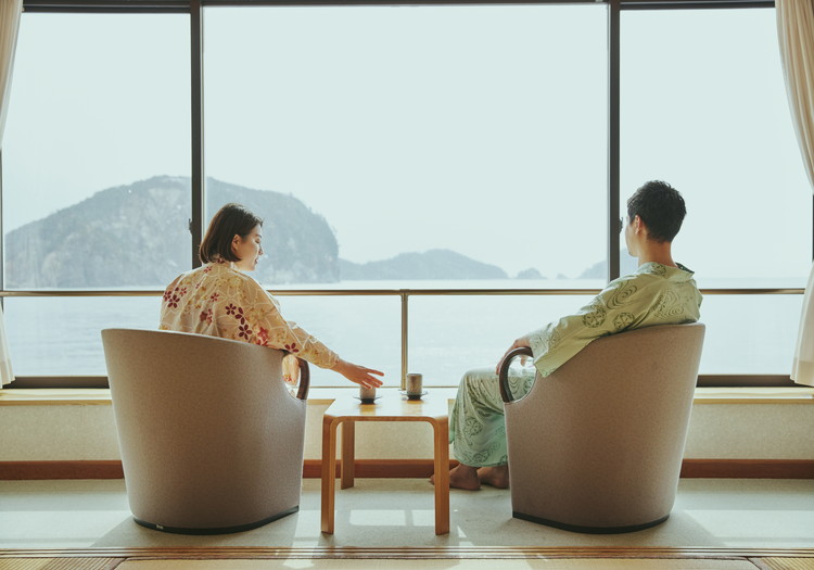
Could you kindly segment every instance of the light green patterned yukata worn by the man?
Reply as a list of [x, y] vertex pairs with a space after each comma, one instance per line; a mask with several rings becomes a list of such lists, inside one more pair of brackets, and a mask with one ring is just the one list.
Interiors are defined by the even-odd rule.
[[[554, 372], [595, 339], [656, 325], [698, 320], [701, 293], [692, 271], [678, 265], [645, 263], [635, 274], [608, 283], [577, 313], [525, 335], [536, 370], [509, 377], [516, 397], [525, 395], [540, 377]], [[507, 464], [506, 423], [494, 369], [470, 370], [461, 379], [449, 418], [449, 441], [462, 464], [491, 467]]]

